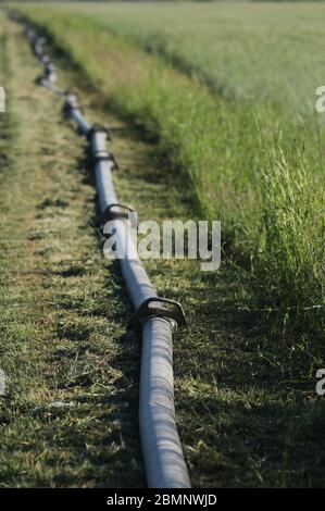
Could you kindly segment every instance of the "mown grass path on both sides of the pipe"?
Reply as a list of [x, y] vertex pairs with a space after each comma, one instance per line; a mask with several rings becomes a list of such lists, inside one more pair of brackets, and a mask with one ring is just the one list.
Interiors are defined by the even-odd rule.
[[[1, 148], [10, 157], [0, 174], [0, 366], [9, 391], [0, 400], [0, 486], [142, 486], [140, 346], [125, 329], [118, 270], [102, 259], [91, 226], [83, 142], [60, 102], [33, 85], [39, 67], [21, 28], [2, 21], [10, 108]], [[74, 83], [78, 75], [60, 71], [61, 85]], [[113, 128], [120, 200], [140, 219], [187, 217], [190, 204], [155, 147], [112, 115], [102, 94], [82, 96], [90, 120]], [[238, 312], [249, 300], [242, 273], [226, 262], [214, 276], [186, 261], [148, 270], [189, 315], [175, 339], [175, 379], [192, 484], [324, 485], [323, 404], [310, 381], [289, 382], [295, 367], [279, 362], [277, 339], [255, 315]]]

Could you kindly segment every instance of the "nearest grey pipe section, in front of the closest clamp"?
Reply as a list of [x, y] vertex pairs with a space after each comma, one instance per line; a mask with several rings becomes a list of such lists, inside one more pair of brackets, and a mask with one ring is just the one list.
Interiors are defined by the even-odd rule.
[[139, 425], [150, 488], [190, 488], [174, 407], [171, 323], [153, 317], [142, 325]]

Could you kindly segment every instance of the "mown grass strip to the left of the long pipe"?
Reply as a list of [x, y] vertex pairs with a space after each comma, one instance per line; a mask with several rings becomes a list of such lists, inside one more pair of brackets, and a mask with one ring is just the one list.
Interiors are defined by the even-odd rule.
[[0, 487], [141, 486], [139, 345], [91, 225], [83, 140], [34, 84], [21, 27], [1, 26]]

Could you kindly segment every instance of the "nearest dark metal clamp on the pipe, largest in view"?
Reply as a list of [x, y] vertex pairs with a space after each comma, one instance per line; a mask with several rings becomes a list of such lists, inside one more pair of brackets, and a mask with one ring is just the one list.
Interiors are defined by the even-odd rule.
[[[153, 302], [158, 302], [160, 306], [150, 307], [150, 303]], [[161, 303], [173, 306], [173, 309], [161, 307]], [[149, 316], [173, 320], [179, 327], [186, 325], [185, 313], [178, 301], [170, 300], [167, 298], [151, 297], [147, 298], [147, 300], [145, 300], [140, 307], [130, 315], [127, 322], [127, 326], [129, 328], [139, 328], [141, 320]]]

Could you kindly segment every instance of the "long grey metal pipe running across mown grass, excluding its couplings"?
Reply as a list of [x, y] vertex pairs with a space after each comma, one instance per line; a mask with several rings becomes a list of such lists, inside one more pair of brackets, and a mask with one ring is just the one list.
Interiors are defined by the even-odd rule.
[[[45, 58], [43, 39], [37, 37], [33, 29], [28, 29], [27, 35], [34, 41], [35, 54], [45, 66], [45, 77], [40, 82], [61, 95], [60, 89], [52, 85], [55, 71], [50, 60]], [[64, 109], [76, 122], [79, 132], [90, 138], [90, 148], [96, 161], [99, 208], [104, 212], [112, 204], [118, 203], [112, 178], [114, 160], [107, 148], [108, 133], [92, 127], [86, 121], [75, 95], [65, 94]], [[120, 259], [120, 264], [135, 309], [139, 309], [150, 298], [157, 298], [159, 301], [139, 260], [129, 220], [120, 216], [113, 222], [116, 242], [125, 249], [125, 258]], [[176, 323], [174, 320], [153, 315], [140, 320], [140, 327], [142, 351], [139, 429], [147, 483], [151, 488], [189, 488], [190, 481], [177, 433], [174, 407], [173, 332]]]

